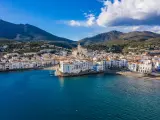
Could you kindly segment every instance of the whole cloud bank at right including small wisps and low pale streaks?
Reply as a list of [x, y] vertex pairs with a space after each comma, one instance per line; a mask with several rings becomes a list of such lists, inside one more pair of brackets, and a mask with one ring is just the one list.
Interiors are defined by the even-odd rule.
[[160, 0], [101, 0], [101, 3], [103, 7], [97, 16], [93, 12], [84, 13], [86, 19], [71, 20], [69, 25], [86, 27], [88, 36], [111, 30], [160, 34]]

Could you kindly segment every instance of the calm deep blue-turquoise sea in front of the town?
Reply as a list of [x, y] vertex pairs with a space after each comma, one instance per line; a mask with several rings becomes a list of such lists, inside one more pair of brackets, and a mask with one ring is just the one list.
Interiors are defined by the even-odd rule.
[[160, 120], [160, 81], [0, 73], [0, 120]]

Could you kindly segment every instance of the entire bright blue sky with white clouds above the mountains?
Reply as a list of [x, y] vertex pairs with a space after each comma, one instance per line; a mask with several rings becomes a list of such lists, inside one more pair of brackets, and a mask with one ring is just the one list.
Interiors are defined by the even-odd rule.
[[0, 19], [80, 40], [102, 32], [160, 33], [160, 0], [0, 0]]

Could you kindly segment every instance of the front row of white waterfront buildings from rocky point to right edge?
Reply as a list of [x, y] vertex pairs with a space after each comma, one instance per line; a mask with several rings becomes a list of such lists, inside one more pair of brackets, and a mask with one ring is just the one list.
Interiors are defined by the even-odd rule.
[[160, 62], [153, 64], [151, 60], [128, 62], [126, 59], [91, 61], [91, 60], [66, 60], [60, 61], [59, 71], [62, 73], [78, 74], [85, 71], [106, 72], [107, 70], [129, 70], [142, 74], [150, 74], [160, 70]]

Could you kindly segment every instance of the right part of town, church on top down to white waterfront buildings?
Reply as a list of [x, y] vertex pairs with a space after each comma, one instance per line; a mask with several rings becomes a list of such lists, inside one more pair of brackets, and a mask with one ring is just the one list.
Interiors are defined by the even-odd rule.
[[57, 69], [62, 74], [80, 74], [83, 72], [106, 72], [107, 70], [128, 70], [150, 74], [160, 70], [160, 58], [157, 56], [123, 56], [121, 54], [92, 51], [78, 45], [72, 52], [74, 59], [60, 61]]

